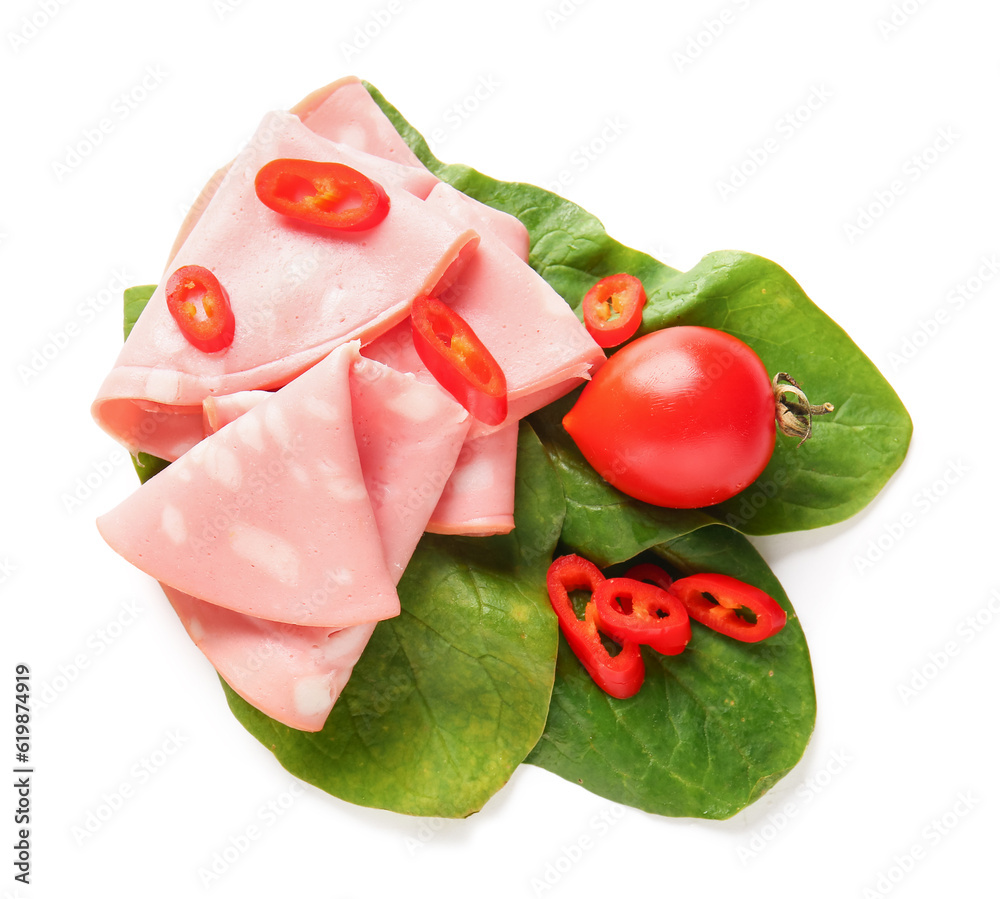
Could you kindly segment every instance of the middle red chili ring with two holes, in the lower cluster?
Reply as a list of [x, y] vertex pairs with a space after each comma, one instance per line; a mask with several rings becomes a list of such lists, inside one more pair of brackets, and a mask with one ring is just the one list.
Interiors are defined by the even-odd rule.
[[608, 578], [594, 591], [594, 603], [601, 630], [615, 640], [632, 640], [675, 656], [691, 639], [684, 603], [656, 584]]

